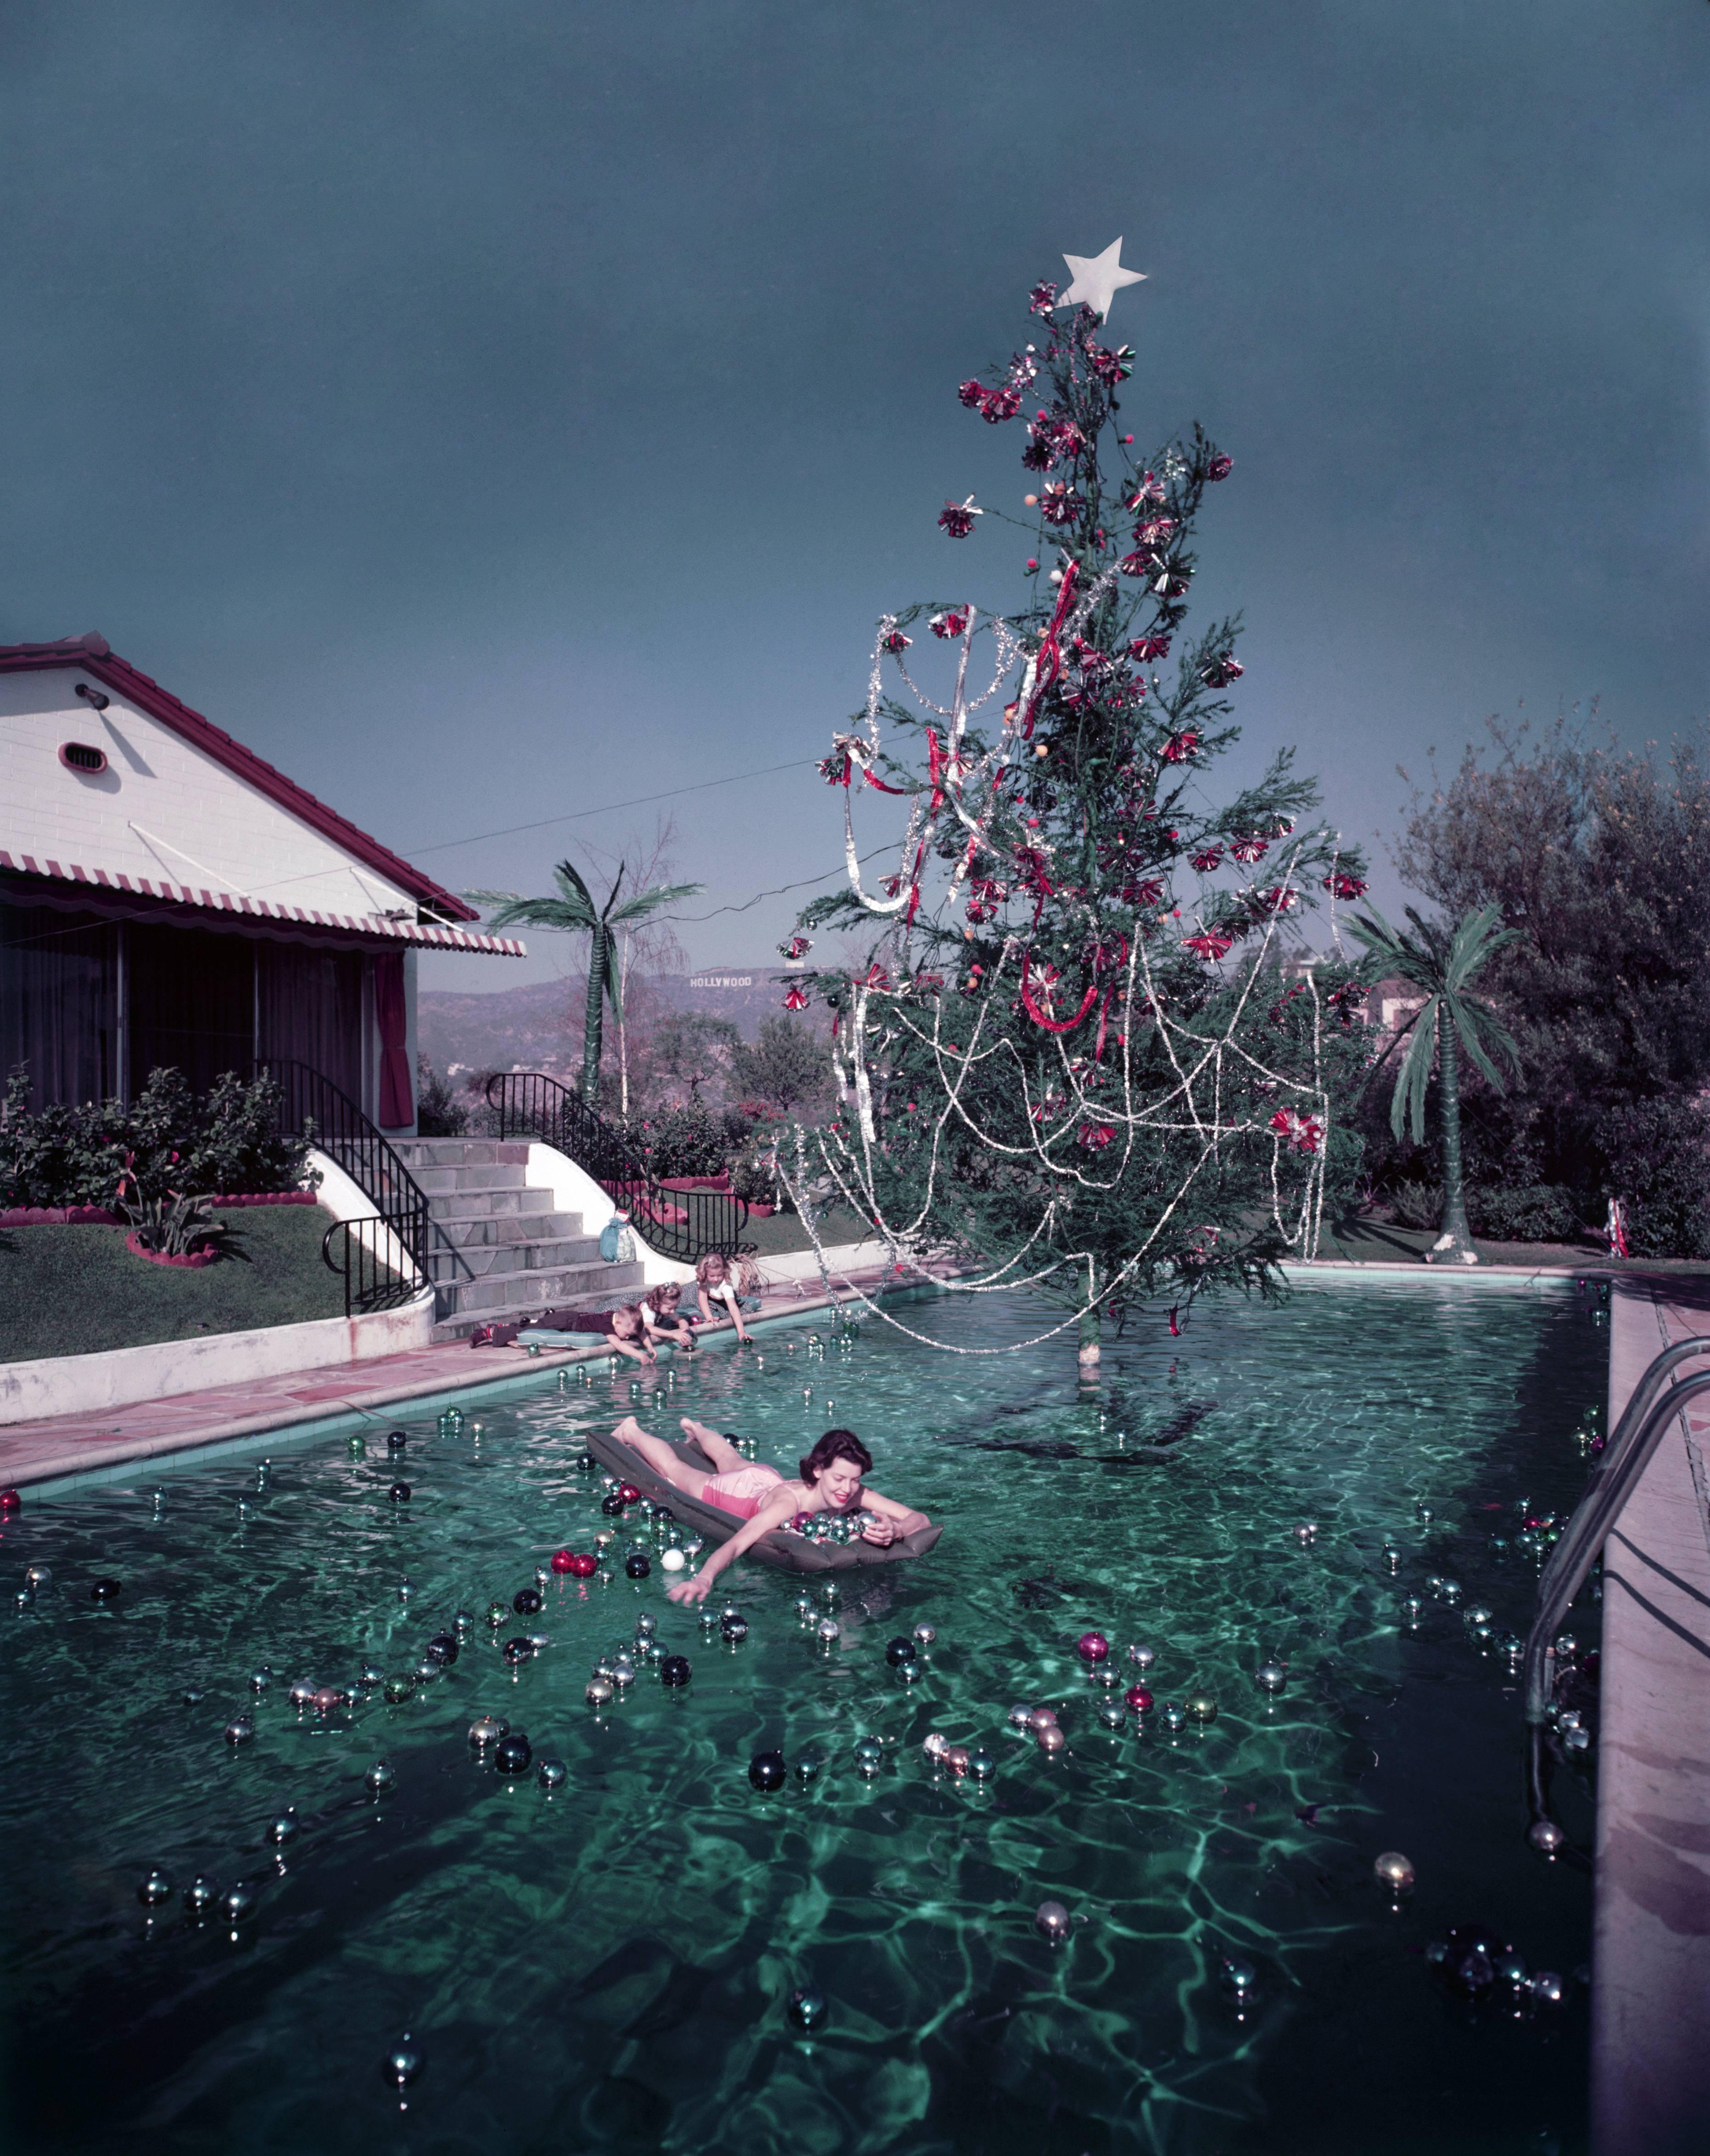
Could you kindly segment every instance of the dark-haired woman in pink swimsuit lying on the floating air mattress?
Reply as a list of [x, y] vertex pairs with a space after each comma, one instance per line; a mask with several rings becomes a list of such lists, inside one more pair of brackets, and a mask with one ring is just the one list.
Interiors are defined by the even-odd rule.
[[672, 1602], [704, 1602], [726, 1565], [734, 1565], [743, 1550], [773, 1526], [788, 1526], [799, 1511], [870, 1511], [874, 1518], [864, 1529], [864, 1539], [877, 1542], [881, 1550], [900, 1535], [913, 1535], [933, 1524], [924, 1511], [913, 1511], [913, 1507], [898, 1505], [896, 1498], [879, 1496], [877, 1490], [864, 1485], [861, 1477], [872, 1468], [872, 1453], [853, 1429], [827, 1429], [801, 1462], [801, 1481], [786, 1481], [777, 1468], [765, 1462], [743, 1460], [730, 1438], [721, 1438], [717, 1429], [709, 1429], [706, 1423], [696, 1423], [687, 1414], [683, 1432], [713, 1462], [713, 1475], [685, 1466], [670, 1445], [663, 1438], [650, 1438], [633, 1414], [627, 1414], [612, 1436], [637, 1451], [657, 1475], [683, 1490], [685, 1496], [749, 1518], [730, 1542], [719, 1544], [706, 1557], [693, 1578], [665, 1589]]

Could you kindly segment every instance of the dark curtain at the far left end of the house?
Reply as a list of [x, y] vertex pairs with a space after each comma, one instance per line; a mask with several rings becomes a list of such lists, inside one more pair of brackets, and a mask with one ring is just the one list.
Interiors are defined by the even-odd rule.
[[0, 1080], [17, 1065], [30, 1106], [118, 1091], [118, 927], [56, 906], [0, 903]]

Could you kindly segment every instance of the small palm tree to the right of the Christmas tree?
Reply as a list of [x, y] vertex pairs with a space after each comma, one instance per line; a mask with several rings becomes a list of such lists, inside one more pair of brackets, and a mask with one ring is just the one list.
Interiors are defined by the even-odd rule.
[[1454, 934], [1434, 921], [1421, 921], [1411, 906], [1406, 918], [1413, 923], [1411, 936], [1404, 929], [1393, 929], [1376, 908], [1370, 916], [1357, 914], [1348, 923], [1385, 972], [1426, 992], [1424, 1007], [1408, 1022], [1413, 1039], [1396, 1074], [1389, 1128], [1400, 1138], [1406, 1119], [1413, 1123], [1413, 1143], [1424, 1143], [1426, 1082], [1434, 1052], [1436, 1112], [1443, 1123], [1443, 1233], [1426, 1255], [1426, 1263], [1443, 1259], [1452, 1266], [1477, 1266], [1477, 1250], [1467, 1227], [1467, 1179], [1460, 1166], [1460, 1050], [1467, 1050], [1499, 1093], [1503, 1080], [1490, 1052], [1503, 1056], [1518, 1078], [1520, 1050], [1490, 1005], [1467, 992], [1467, 983], [1520, 931], [1499, 927], [1499, 906], [1484, 906], [1480, 912], [1467, 914]]

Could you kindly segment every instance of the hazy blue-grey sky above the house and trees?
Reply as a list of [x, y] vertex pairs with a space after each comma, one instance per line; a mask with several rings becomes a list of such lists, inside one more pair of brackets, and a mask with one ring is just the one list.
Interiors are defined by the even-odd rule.
[[1124, 423], [1234, 457], [1230, 778], [1294, 746], [1393, 908], [1398, 765], [1710, 707], [1706, 140], [1706, 0], [0, 0], [0, 642], [457, 890], [674, 813], [689, 962], [762, 966], [877, 617], [1021, 604], [956, 384], [1120, 235]]

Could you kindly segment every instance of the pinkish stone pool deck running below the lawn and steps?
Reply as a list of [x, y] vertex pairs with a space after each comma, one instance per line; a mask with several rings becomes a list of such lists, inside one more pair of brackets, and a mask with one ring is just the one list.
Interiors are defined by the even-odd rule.
[[[870, 1246], [859, 1263], [840, 1266], [844, 1253], [827, 1250], [833, 1294], [827, 1298], [816, 1276], [775, 1281], [760, 1296], [758, 1315], [749, 1326], [777, 1317], [808, 1317], [849, 1300], [842, 1289], [872, 1296], [887, 1285], [883, 1263], [872, 1261]], [[702, 1339], [730, 1339], [730, 1326], [704, 1326]], [[661, 1350], [674, 1354], [676, 1350]], [[254, 1378], [246, 1384], [218, 1384], [200, 1393], [174, 1393], [170, 1399], [149, 1399], [134, 1408], [103, 1414], [56, 1414], [34, 1423], [0, 1427], [0, 1485], [28, 1490], [32, 1483], [99, 1477], [136, 1460], [166, 1460], [202, 1447], [263, 1432], [284, 1432], [299, 1423], [321, 1423], [338, 1414], [373, 1414], [409, 1401], [454, 1393], [463, 1386], [491, 1384], [506, 1378], [536, 1378], [543, 1369], [569, 1363], [607, 1360], [603, 1345], [545, 1348], [525, 1356], [515, 1348], [469, 1348], [457, 1341], [444, 1348], [416, 1348], [407, 1354], [375, 1356], [368, 1363], [340, 1363], [330, 1369], [286, 1371], [276, 1378]]]

